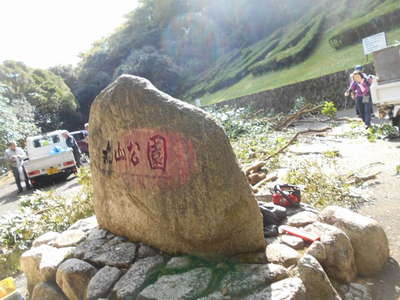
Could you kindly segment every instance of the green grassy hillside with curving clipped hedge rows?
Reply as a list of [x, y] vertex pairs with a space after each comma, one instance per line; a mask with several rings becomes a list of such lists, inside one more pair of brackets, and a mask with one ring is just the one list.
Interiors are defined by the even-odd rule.
[[183, 98], [207, 105], [320, 77], [367, 63], [361, 46], [366, 36], [386, 31], [389, 44], [400, 41], [399, 1], [356, 2], [319, 2], [296, 22], [190, 78]]

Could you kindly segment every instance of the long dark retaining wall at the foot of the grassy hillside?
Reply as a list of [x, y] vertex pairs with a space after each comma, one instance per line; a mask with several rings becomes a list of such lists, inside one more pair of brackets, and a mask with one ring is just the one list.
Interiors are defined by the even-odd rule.
[[[345, 98], [344, 92], [349, 84], [353, 69], [340, 71], [273, 90], [247, 95], [215, 104], [217, 107], [251, 107], [254, 110], [271, 112], [289, 112], [295, 100], [304, 97], [307, 103], [333, 101], [338, 108], [354, 105], [351, 98]], [[365, 73], [374, 74], [373, 65], [365, 66]]]

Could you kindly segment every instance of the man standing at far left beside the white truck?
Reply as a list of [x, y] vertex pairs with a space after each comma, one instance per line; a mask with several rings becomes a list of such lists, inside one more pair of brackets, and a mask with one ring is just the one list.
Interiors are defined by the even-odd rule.
[[20, 147], [17, 147], [16, 142], [10, 142], [8, 144], [8, 149], [5, 151], [4, 155], [8, 167], [13, 172], [15, 183], [18, 187], [18, 193], [21, 193], [23, 191], [21, 185], [21, 175], [25, 177], [24, 179], [26, 190], [29, 190], [31, 188], [31, 185], [29, 184], [28, 176], [26, 176], [26, 172], [22, 166], [22, 162], [26, 158], [25, 151], [22, 150]]

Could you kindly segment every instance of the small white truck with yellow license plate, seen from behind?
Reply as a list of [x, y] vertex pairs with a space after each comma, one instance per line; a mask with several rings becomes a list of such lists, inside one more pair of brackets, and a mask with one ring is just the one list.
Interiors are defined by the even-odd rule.
[[77, 172], [72, 149], [67, 146], [63, 132], [57, 130], [26, 139], [28, 159], [23, 166], [33, 186], [40, 186], [54, 177], [66, 179]]

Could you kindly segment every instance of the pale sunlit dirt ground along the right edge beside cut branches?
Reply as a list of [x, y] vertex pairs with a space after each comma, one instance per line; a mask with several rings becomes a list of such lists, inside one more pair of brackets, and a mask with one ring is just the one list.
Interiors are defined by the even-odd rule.
[[[353, 111], [341, 113], [354, 117], [352, 114]], [[296, 129], [326, 126], [324, 123], [301, 123]], [[374, 299], [400, 299], [400, 176], [396, 176], [395, 170], [400, 165], [400, 139], [371, 143], [366, 137], [337, 138], [352, 130], [348, 123], [342, 123], [326, 137], [318, 138], [308, 146], [315, 149], [316, 144], [320, 144], [326, 149], [339, 151], [341, 157], [337, 163], [344, 172], [361, 170], [365, 175], [380, 172], [377, 180], [365, 188], [369, 201], [358, 211], [381, 223], [389, 239], [391, 259], [383, 274], [375, 279]]]

